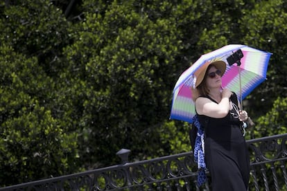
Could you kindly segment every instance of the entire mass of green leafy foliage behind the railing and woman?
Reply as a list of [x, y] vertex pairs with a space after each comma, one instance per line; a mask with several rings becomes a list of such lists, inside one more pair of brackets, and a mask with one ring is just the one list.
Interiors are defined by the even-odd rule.
[[69, 21], [68, 3], [0, 3], [1, 185], [119, 163], [121, 148], [132, 160], [189, 151], [189, 124], [168, 121], [173, 86], [226, 44], [273, 53], [246, 99], [247, 137], [286, 131], [284, 1], [86, 0]]

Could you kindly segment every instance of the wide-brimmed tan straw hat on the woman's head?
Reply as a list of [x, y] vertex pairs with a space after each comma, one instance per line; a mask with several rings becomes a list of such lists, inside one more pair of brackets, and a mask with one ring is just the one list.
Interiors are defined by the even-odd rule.
[[223, 76], [223, 74], [225, 73], [226, 70], [226, 63], [223, 62], [222, 60], [218, 60], [218, 61], [212, 61], [212, 62], [206, 62], [205, 64], [203, 64], [197, 71], [195, 71], [194, 75], [196, 78], [195, 81], [195, 88], [198, 87], [198, 85], [202, 82], [203, 78], [205, 78], [205, 73], [207, 72], [207, 68], [208, 66], [212, 64], [214, 66], [216, 66], [216, 69], [221, 71], [221, 77]]

